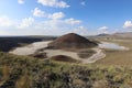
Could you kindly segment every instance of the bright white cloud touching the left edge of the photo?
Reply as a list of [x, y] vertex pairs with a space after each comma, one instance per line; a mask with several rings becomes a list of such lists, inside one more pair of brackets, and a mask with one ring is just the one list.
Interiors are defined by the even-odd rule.
[[0, 26], [11, 26], [14, 22], [6, 15], [0, 16]]

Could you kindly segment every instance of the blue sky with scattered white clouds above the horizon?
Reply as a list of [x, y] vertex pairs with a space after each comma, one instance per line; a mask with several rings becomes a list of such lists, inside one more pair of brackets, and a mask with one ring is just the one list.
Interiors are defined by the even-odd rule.
[[0, 36], [132, 31], [132, 0], [0, 0]]

